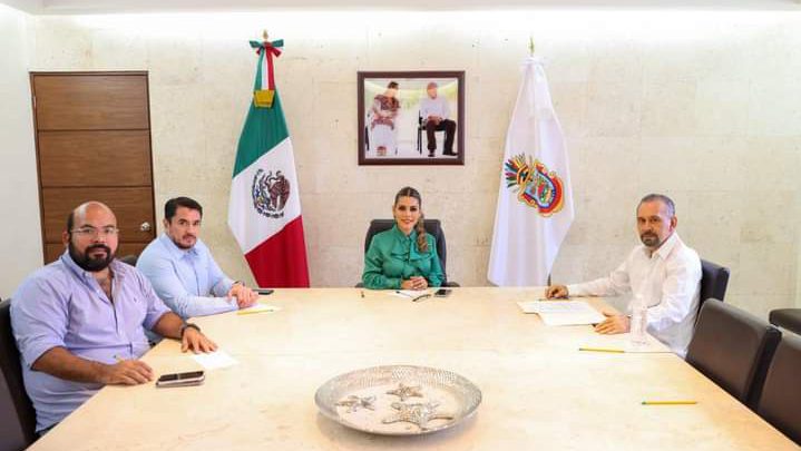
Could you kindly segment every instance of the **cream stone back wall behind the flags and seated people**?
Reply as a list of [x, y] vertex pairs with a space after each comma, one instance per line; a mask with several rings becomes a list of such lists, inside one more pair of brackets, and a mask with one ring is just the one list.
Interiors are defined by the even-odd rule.
[[[275, 12], [39, 17], [38, 70], [150, 72], [156, 198], [197, 197], [204, 237], [235, 277], [225, 225], [236, 140], [267, 27], [286, 40], [279, 87], [295, 145], [315, 286], [351, 285], [372, 217], [402, 185], [443, 220], [449, 273], [485, 285], [502, 143], [528, 37], [566, 129], [576, 222], [556, 281], [604, 274], [636, 243], [648, 192], [683, 238], [727, 265], [729, 300], [794, 304], [801, 268], [801, 14], [793, 12]], [[356, 70], [467, 71], [465, 167], [356, 166]], [[799, 302], [801, 304], [801, 302]]]

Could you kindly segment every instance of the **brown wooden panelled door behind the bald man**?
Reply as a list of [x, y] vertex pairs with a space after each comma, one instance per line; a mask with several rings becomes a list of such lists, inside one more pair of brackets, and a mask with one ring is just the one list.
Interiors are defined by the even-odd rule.
[[117, 215], [118, 256], [155, 236], [147, 72], [31, 72], [45, 263], [87, 200]]

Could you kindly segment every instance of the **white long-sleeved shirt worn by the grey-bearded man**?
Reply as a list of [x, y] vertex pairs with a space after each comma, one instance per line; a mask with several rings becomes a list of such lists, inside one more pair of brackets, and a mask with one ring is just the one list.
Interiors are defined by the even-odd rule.
[[[700, 282], [699, 254], [674, 232], [653, 255], [639, 245], [608, 277], [567, 290], [575, 296], [642, 295], [648, 305], [648, 333], [684, 357], [695, 327]], [[632, 302], [626, 310], [631, 314]]]

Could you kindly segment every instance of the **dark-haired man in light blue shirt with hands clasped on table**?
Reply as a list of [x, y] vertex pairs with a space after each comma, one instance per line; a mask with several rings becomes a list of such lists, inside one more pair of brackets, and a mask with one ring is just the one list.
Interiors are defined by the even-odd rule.
[[136, 267], [158, 297], [183, 318], [250, 307], [258, 295], [228, 278], [217, 266], [201, 232], [203, 207], [188, 197], [164, 205], [164, 234], [148, 244]]

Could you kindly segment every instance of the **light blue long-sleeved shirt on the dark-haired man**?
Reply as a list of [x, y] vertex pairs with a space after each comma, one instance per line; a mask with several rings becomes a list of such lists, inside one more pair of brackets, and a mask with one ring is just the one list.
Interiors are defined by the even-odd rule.
[[212, 253], [198, 238], [189, 249], [182, 249], [167, 234], [145, 247], [136, 267], [150, 280], [165, 304], [184, 320], [237, 310], [227, 297], [234, 281], [228, 278]]

